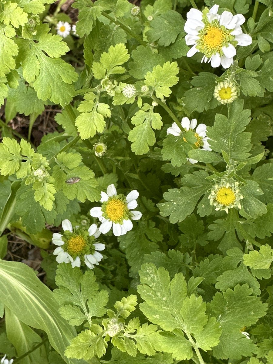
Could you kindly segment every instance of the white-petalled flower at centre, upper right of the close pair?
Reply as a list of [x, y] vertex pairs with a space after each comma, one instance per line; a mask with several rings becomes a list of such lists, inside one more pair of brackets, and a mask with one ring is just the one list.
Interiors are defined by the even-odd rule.
[[90, 215], [98, 217], [102, 222], [99, 231], [106, 234], [113, 227], [114, 235], [120, 236], [132, 230], [131, 220], [139, 220], [142, 216], [139, 211], [129, 211], [137, 207], [136, 199], [138, 196], [137, 190], [128, 193], [127, 197], [123, 194], [117, 195], [115, 186], [113, 184], [109, 185], [107, 193], [101, 193], [100, 202], [102, 202], [102, 207], [93, 207], [90, 210]]

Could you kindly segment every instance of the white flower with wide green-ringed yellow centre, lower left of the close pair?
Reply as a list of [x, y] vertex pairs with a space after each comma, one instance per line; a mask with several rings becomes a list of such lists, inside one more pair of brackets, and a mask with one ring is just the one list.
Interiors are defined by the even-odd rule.
[[96, 243], [100, 232], [96, 224], [92, 224], [88, 230], [79, 226], [73, 227], [68, 219], [62, 222], [64, 234], [54, 233], [52, 242], [58, 245], [53, 252], [58, 263], [71, 263], [72, 267], [80, 267], [84, 263], [93, 269], [94, 264], [99, 265], [103, 256], [97, 250], [104, 250], [105, 245]]

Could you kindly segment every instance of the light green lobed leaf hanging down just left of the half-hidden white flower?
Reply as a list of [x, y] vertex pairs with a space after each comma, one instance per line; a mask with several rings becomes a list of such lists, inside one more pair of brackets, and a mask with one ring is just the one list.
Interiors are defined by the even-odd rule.
[[[131, 123], [136, 126], [130, 130], [128, 135], [128, 140], [132, 142], [131, 149], [137, 155], [149, 152], [149, 146], [153, 146], [156, 141], [153, 129], [160, 130], [162, 127], [162, 118], [153, 111], [154, 107], [148, 104], [145, 106], [132, 117]], [[149, 110], [144, 111], [147, 110], [147, 107]]]

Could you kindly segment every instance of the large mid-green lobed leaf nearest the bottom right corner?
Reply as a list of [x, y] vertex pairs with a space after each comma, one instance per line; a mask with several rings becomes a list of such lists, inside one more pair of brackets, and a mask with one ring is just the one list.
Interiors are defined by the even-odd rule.
[[246, 339], [241, 331], [255, 324], [266, 313], [267, 304], [260, 298], [252, 296], [252, 288], [247, 284], [236, 285], [234, 290], [217, 292], [211, 303], [207, 304], [209, 312], [218, 317], [222, 328], [220, 343], [213, 348], [213, 355], [221, 359], [241, 359], [251, 356], [256, 351], [252, 340]]

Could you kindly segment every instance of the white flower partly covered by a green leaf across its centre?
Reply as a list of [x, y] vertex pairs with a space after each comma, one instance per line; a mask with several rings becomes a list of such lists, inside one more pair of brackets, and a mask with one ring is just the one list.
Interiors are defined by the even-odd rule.
[[[194, 131], [194, 128], [197, 126], [197, 120], [189, 118], [183, 118], [181, 120], [181, 125], [185, 130], [192, 130]], [[175, 137], [178, 137], [182, 131], [178, 127], [177, 123], [171, 124], [171, 127], [167, 129], [167, 134], [172, 134]], [[205, 150], [211, 150], [209, 143], [207, 140], [209, 139], [207, 137], [207, 127], [205, 124], [199, 124], [198, 127], [195, 130], [195, 138], [197, 139], [197, 142], [195, 142], [195, 146], [199, 149], [205, 149]], [[184, 139], [186, 141], [186, 139]], [[190, 163], [197, 163], [198, 161], [195, 161], [195, 159], [187, 158]]]

